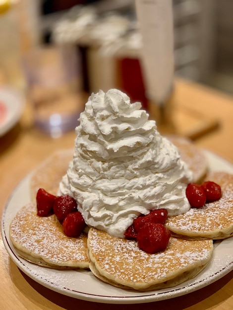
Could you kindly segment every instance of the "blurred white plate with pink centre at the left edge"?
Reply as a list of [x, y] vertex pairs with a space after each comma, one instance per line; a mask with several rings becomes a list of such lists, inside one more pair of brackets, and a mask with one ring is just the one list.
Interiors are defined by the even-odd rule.
[[0, 137], [19, 120], [24, 108], [22, 95], [8, 87], [0, 88]]

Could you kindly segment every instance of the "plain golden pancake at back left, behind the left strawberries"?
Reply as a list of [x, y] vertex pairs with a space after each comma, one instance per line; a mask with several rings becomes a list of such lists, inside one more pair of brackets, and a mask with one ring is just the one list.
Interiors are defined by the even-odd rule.
[[73, 158], [73, 149], [59, 150], [44, 160], [31, 176], [31, 196], [36, 198], [39, 188], [57, 195], [59, 182], [66, 174], [69, 161]]

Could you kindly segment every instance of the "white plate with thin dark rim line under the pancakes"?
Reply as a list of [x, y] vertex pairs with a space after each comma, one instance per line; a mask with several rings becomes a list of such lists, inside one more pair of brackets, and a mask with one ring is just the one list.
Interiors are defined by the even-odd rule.
[[[212, 170], [233, 173], [233, 165], [221, 157], [205, 151]], [[203, 288], [233, 270], [233, 238], [214, 244], [213, 256], [207, 267], [194, 279], [173, 288], [134, 292], [116, 288], [95, 278], [90, 271], [55, 270], [32, 264], [16, 254], [9, 239], [9, 224], [16, 212], [30, 201], [30, 175], [13, 191], [4, 209], [1, 233], [5, 248], [14, 263], [36, 282], [63, 295], [77, 299], [109, 303], [138, 304], [165, 300]]]

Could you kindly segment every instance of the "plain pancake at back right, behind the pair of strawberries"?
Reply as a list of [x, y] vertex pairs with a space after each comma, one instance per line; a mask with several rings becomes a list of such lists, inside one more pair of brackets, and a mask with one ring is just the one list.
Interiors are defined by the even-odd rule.
[[193, 182], [201, 183], [208, 171], [208, 161], [203, 151], [187, 138], [176, 135], [168, 135], [167, 138], [177, 147], [180, 158], [192, 171]]

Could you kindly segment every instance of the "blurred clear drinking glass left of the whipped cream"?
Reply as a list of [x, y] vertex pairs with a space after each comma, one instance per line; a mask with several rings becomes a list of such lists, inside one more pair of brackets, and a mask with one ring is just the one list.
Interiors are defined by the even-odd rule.
[[78, 53], [74, 46], [44, 46], [24, 58], [34, 124], [57, 138], [78, 125]]

